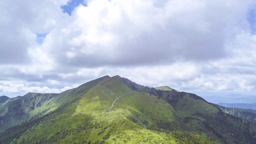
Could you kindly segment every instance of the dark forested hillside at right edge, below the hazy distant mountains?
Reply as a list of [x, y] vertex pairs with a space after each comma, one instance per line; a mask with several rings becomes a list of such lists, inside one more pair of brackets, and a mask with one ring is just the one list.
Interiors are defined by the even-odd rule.
[[242, 118], [243, 120], [256, 124], [256, 110], [244, 108], [227, 108], [218, 104], [215, 105], [218, 106], [226, 114], [230, 114], [232, 116], [236, 116]]

